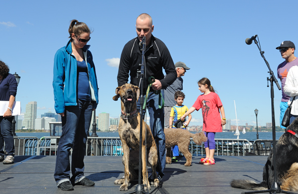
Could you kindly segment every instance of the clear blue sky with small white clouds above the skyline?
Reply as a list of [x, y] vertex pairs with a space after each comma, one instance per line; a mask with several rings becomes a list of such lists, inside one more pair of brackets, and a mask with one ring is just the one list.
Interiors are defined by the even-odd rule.
[[[37, 101], [37, 116], [54, 110], [53, 61], [56, 51], [69, 40], [72, 19], [92, 30], [88, 44], [99, 83], [96, 114], [118, 118], [120, 102], [113, 101], [119, 58], [124, 45], [136, 37], [136, 18], [148, 13], [153, 35], [168, 47], [174, 63], [191, 69], [183, 77], [184, 105], [189, 108], [201, 94], [197, 81], [208, 77], [219, 94], [227, 119], [238, 125], [271, 123], [268, 68], [257, 46], [245, 39], [257, 34], [262, 51], [277, 77], [284, 60], [278, 50], [282, 41], [298, 46], [298, 1], [277, 0], [13, 0], [2, 1], [0, 12], [0, 60], [10, 73], [21, 76], [16, 100]], [[298, 54], [297, 54], [298, 55]], [[274, 86], [276, 124], [279, 125], [281, 91]], [[193, 113], [190, 125], [202, 125], [201, 111]]]

